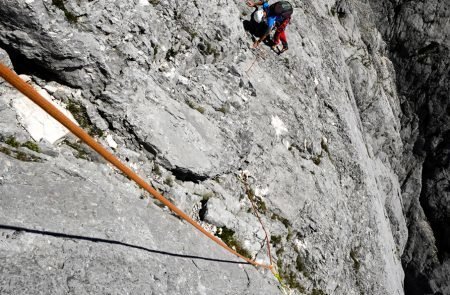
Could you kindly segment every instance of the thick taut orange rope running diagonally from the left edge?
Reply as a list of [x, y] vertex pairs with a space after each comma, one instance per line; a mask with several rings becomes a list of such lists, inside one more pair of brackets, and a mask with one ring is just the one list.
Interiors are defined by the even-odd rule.
[[134, 180], [140, 187], [148, 191], [152, 194], [153, 197], [158, 199], [161, 203], [166, 205], [170, 210], [172, 210], [175, 214], [189, 222], [196, 229], [201, 231], [208, 238], [219, 244], [225, 250], [230, 253], [242, 258], [254, 266], [261, 266], [266, 269], [272, 269], [272, 265], [266, 265], [262, 263], [258, 263], [254, 260], [248, 259], [247, 257], [242, 256], [237, 253], [235, 250], [228, 247], [223, 241], [206, 231], [203, 227], [201, 227], [197, 222], [195, 222], [192, 218], [190, 218], [186, 213], [178, 209], [174, 204], [172, 204], [169, 200], [164, 198], [159, 192], [157, 192], [151, 185], [149, 185], [145, 180], [143, 180], [139, 175], [137, 175], [133, 170], [128, 168], [125, 164], [123, 164], [117, 157], [111, 154], [106, 148], [104, 148], [101, 144], [99, 144], [95, 139], [93, 139], [89, 134], [87, 134], [83, 129], [78, 127], [75, 123], [73, 123], [69, 118], [67, 118], [62, 112], [60, 112], [55, 106], [53, 106], [50, 102], [48, 102], [45, 98], [43, 98], [36, 90], [33, 89], [30, 85], [24, 82], [16, 73], [8, 69], [5, 65], [0, 63], [0, 76], [5, 79], [8, 83], [14, 86], [17, 90], [22, 92], [25, 96], [31, 99], [34, 103], [36, 103], [39, 107], [41, 107], [44, 111], [46, 111], [50, 116], [59, 121], [62, 125], [64, 125], [67, 129], [69, 129], [73, 134], [75, 134], [78, 138], [84, 141], [88, 146], [90, 146], [93, 150], [99, 153], [103, 158], [105, 158], [108, 162], [113, 164], [117, 169], [122, 171], [125, 175], [127, 175], [130, 179]]

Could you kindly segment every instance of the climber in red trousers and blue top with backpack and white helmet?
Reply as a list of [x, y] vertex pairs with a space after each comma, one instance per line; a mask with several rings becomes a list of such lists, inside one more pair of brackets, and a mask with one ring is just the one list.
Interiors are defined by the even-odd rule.
[[259, 44], [264, 41], [273, 29], [276, 29], [274, 38], [272, 40], [271, 47], [274, 51], [277, 49], [277, 45], [281, 43], [283, 45], [283, 49], [278, 51], [278, 54], [283, 53], [288, 49], [288, 43], [286, 39], [285, 29], [289, 24], [292, 15], [292, 5], [287, 1], [278, 1], [272, 5], [269, 5], [268, 0], [257, 1], [248, 0], [247, 5], [249, 7], [258, 7], [262, 6], [262, 10], [257, 10], [254, 13], [253, 19], [260, 23], [263, 19], [266, 19], [267, 29], [259, 40], [253, 43], [253, 48], [257, 48]]

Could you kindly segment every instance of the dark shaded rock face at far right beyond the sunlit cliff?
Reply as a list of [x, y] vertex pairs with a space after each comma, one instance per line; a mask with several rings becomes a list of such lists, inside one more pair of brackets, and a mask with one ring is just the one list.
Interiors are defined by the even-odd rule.
[[[450, 4], [373, 1], [397, 70], [409, 223], [407, 294], [450, 292]], [[440, 292], [440, 293], [439, 293]]]

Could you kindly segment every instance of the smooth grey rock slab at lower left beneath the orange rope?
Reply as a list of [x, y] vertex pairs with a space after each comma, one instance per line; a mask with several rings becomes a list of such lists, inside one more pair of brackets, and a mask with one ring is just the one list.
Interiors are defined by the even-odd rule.
[[0, 163], [2, 294], [277, 291], [106, 165], [3, 154]]

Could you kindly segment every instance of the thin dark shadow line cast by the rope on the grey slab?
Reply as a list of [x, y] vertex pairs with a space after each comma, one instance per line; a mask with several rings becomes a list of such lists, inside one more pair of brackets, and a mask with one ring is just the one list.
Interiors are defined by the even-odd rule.
[[29, 228], [25, 228], [25, 227], [12, 226], [12, 225], [0, 224], [0, 229], [13, 230], [13, 231], [18, 231], [18, 232], [27, 232], [27, 233], [31, 233], [31, 234], [51, 236], [51, 237], [62, 238], [62, 239], [74, 239], [74, 240], [89, 241], [89, 242], [94, 242], [94, 243], [105, 243], [105, 244], [111, 244], [111, 245], [119, 245], [119, 246], [129, 247], [129, 248], [133, 248], [133, 249], [138, 249], [138, 250], [142, 250], [142, 251], [146, 251], [146, 252], [150, 252], [150, 253], [154, 253], [154, 254], [167, 255], [167, 256], [178, 257], [178, 258], [185, 258], [185, 259], [198, 259], [198, 260], [221, 262], [221, 263], [231, 263], [231, 264], [250, 264], [248, 262], [231, 261], [231, 260], [224, 260], [224, 259], [214, 259], [214, 258], [195, 256], [195, 255], [176, 254], [176, 253], [171, 253], [171, 252], [166, 252], [166, 251], [149, 249], [149, 248], [145, 248], [145, 247], [142, 247], [142, 246], [128, 244], [128, 243], [115, 241], [115, 240], [108, 240], [108, 239], [95, 238], [95, 237], [86, 237], [86, 236], [78, 236], [78, 235], [57, 233], [57, 232], [51, 232], [51, 231], [45, 231], [45, 230], [29, 229]]

